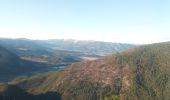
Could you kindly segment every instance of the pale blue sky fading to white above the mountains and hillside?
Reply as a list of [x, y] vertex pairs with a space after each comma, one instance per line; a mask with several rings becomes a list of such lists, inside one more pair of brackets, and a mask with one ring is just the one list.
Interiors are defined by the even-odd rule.
[[0, 0], [0, 37], [170, 41], [170, 0]]

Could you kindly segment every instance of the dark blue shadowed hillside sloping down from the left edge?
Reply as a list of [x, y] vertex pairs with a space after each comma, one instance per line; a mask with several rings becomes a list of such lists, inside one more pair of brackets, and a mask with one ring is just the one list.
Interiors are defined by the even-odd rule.
[[0, 81], [41, 71], [45, 69], [43, 67], [39, 63], [22, 60], [16, 54], [0, 46]]

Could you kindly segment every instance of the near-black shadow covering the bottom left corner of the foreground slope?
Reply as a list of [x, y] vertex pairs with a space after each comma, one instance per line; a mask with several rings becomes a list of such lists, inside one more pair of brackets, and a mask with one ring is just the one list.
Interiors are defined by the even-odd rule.
[[9, 86], [3, 93], [0, 93], [0, 100], [61, 100], [61, 96], [57, 92], [33, 95], [17, 86]]

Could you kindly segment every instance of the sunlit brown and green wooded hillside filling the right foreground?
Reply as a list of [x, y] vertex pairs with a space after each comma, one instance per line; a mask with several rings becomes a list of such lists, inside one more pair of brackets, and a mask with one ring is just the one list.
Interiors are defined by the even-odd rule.
[[170, 42], [151, 44], [10, 84], [62, 100], [170, 100], [169, 61]]

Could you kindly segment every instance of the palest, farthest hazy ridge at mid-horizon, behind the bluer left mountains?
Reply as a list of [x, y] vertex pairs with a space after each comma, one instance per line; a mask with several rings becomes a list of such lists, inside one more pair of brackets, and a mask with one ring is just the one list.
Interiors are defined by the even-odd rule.
[[78, 41], [78, 40], [64, 40], [54, 39], [45, 41], [53, 49], [79, 51], [89, 54], [107, 55], [115, 54], [132, 48], [135, 45], [125, 43], [111, 43], [101, 41]]

